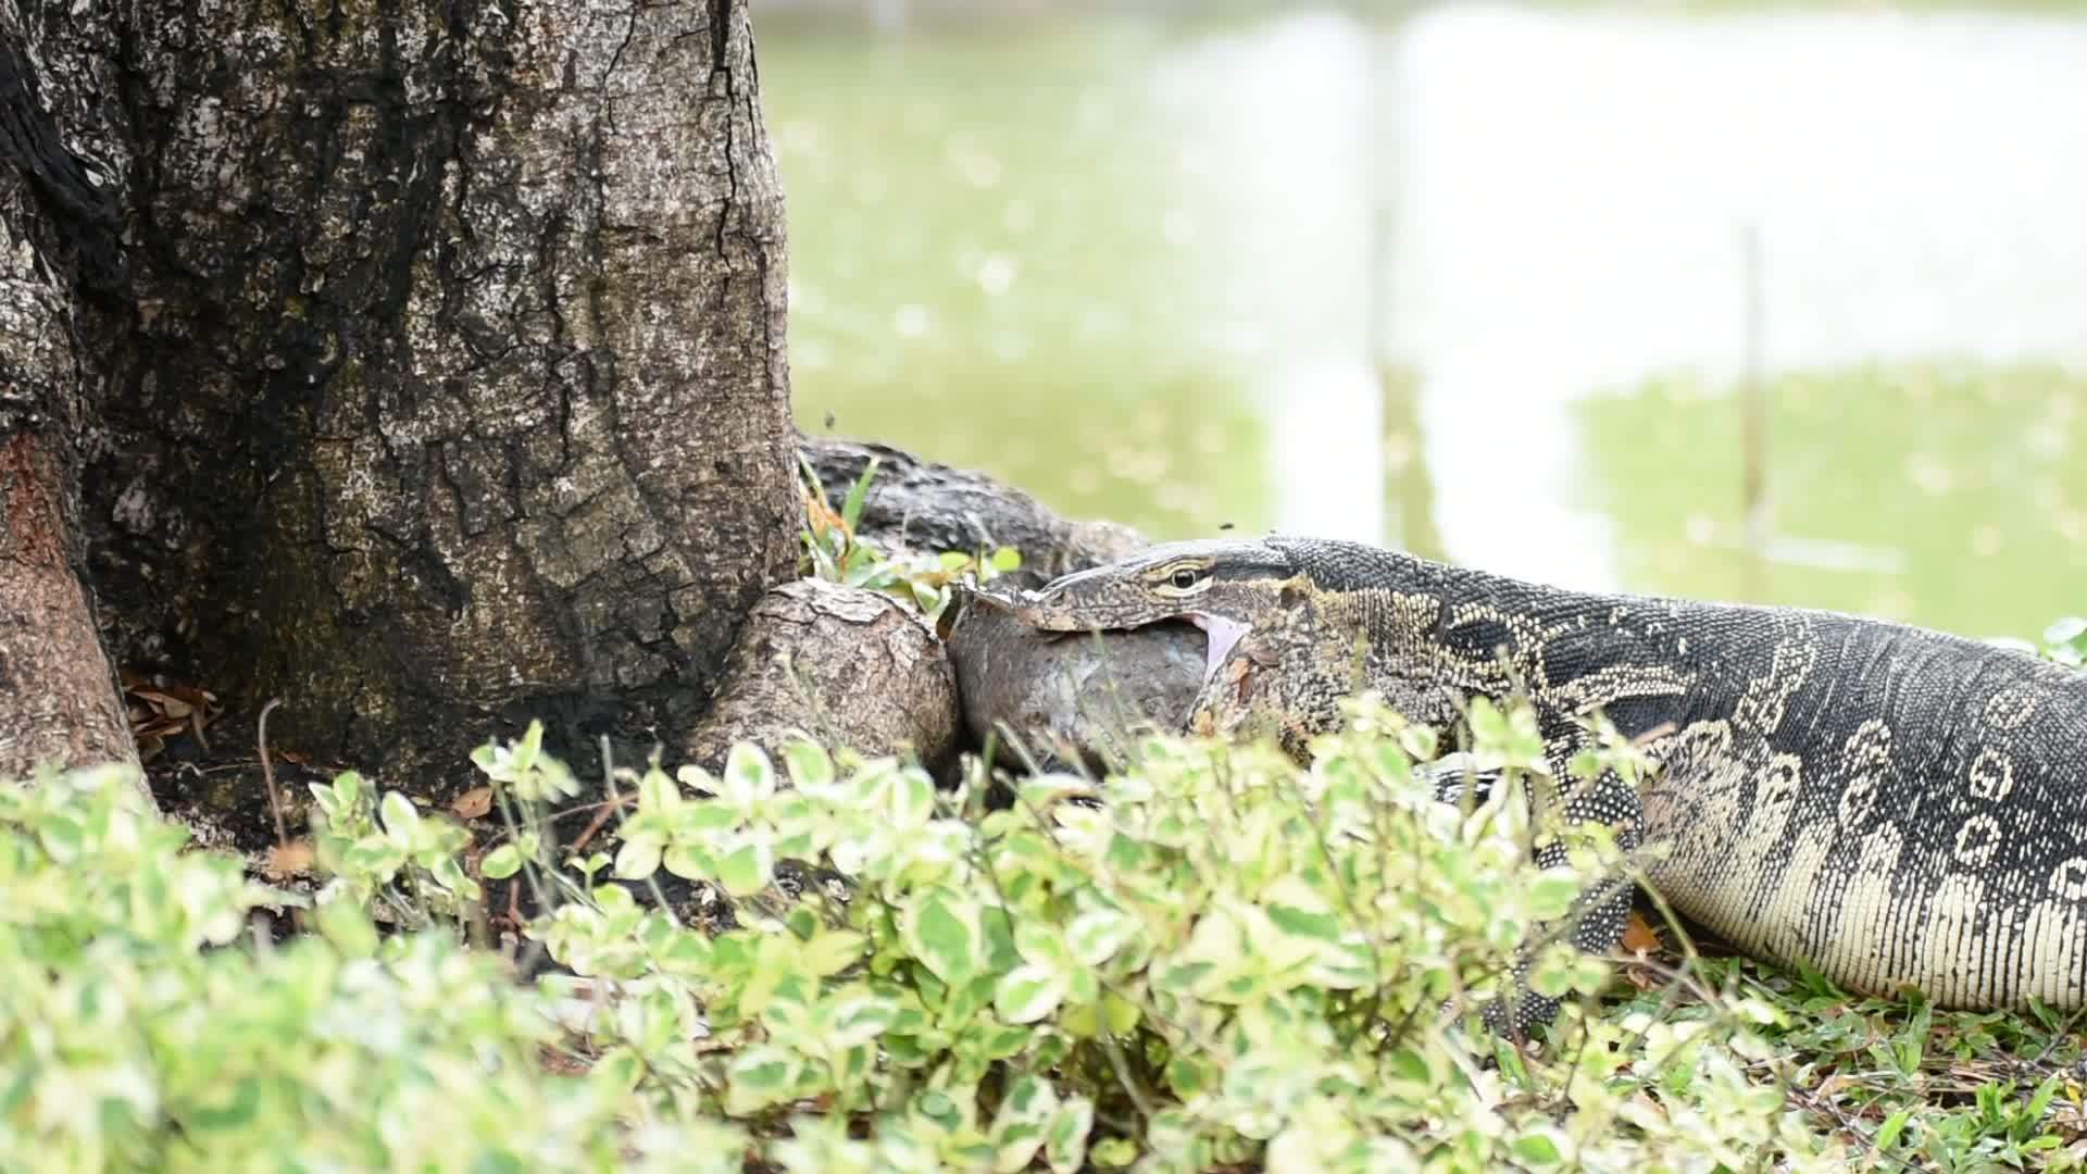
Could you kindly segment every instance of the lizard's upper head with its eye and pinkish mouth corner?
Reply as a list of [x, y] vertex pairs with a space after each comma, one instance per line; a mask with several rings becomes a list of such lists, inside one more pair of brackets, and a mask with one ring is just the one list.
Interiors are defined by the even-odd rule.
[[1284, 606], [1300, 570], [1258, 541], [1162, 543], [1121, 562], [1064, 574], [1014, 600], [1014, 614], [1041, 631], [1127, 631], [1190, 620], [1208, 633], [1204, 681], [1256, 623]]

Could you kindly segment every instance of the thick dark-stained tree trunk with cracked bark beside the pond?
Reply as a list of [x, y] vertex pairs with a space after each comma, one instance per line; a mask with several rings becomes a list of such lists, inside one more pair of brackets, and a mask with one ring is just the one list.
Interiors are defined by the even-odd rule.
[[121, 280], [63, 292], [109, 303], [75, 357], [119, 664], [422, 783], [501, 719], [689, 727], [795, 558], [745, 0], [29, 0], [19, 36], [113, 140]]

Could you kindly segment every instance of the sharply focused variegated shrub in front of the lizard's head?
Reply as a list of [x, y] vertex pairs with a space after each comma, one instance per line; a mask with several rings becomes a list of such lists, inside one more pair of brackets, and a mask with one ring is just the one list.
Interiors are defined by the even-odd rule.
[[[1471, 725], [1482, 758], [1540, 767], [1528, 710], [1480, 706]], [[614, 875], [664, 867], [753, 896], [774, 861], [799, 859], [854, 877], [849, 900], [710, 940], [603, 886], [543, 938], [655, 1005], [649, 1036], [599, 1040], [632, 1072], [659, 1074], [653, 1049], [705, 1007], [714, 1051], [676, 1063], [678, 1097], [793, 1134], [772, 1149], [791, 1168], [1745, 1168], [1818, 1153], [1755, 1076], [1759, 1003], [1674, 1022], [1567, 1013], [1563, 1047], [1532, 1057], [1478, 1030], [1471, 1011], [1501, 992], [1517, 944], [1613, 852], [1588, 844], [1576, 871], [1534, 869], [1519, 788], [1469, 813], [1436, 802], [1413, 771], [1430, 742], [1365, 702], [1309, 771], [1267, 748], [1154, 739], [1102, 806], [1077, 802], [1079, 779], [1041, 777], [1008, 811], [985, 811], [977, 788], [937, 796], [893, 760], [801, 744], [778, 773], [739, 748], [722, 777], [639, 779]], [[601, 963], [632, 940], [649, 957]], [[1532, 976], [1549, 994], [1605, 980], [1561, 944]], [[837, 1132], [843, 1116], [862, 1136]]]

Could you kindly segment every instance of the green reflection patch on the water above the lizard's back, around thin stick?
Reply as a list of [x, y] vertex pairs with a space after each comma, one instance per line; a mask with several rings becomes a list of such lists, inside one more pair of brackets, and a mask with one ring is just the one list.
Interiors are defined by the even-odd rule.
[[[2035, 635], [2087, 610], [2087, 382], [2020, 366], [1849, 368], [1772, 384], [1774, 560], [1755, 566], [1718, 443], [1738, 403], [1668, 378], [1586, 401], [1584, 460], [1622, 572], [1684, 595], [1830, 602], [1974, 633]], [[1849, 441], [1855, 437], [1857, 441]]]

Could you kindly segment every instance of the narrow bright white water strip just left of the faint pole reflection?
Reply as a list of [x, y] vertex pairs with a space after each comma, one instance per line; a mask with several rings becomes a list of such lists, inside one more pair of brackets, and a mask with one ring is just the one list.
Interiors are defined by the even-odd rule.
[[1213, 33], [1158, 63], [1181, 148], [1210, 161], [1188, 198], [1223, 226], [1227, 269], [1254, 286], [1267, 338], [1248, 374], [1269, 416], [1269, 524], [1384, 541], [1375, 67], [1369, 29], [1304, 13]]

